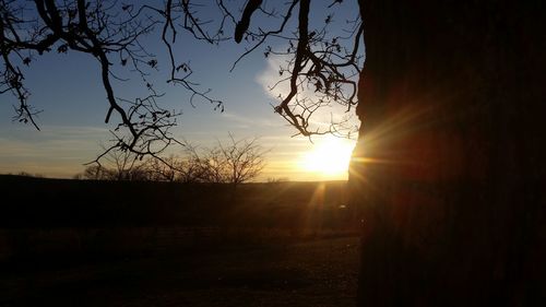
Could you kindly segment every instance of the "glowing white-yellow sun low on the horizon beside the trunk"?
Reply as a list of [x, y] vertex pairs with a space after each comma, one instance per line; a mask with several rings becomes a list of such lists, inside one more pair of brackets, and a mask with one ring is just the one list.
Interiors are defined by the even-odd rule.
[[332, 135], [324, 137], [304, 153], [299, 166], [306, 172], [312, 172], [327, 177], [347, 174], [354, 142]]

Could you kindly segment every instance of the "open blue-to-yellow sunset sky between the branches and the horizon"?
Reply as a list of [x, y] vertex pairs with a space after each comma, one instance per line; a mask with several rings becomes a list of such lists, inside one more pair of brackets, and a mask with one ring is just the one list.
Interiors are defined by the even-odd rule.
[[[269, 2], [265, 5], [275, 3]], [[319, 8], [313, 10], [311, 7], [311, 10], [316, 12], [311, 15], [314, 22], [328, 15]], [[333, 20], [343, 26], [347, 19], [354, 17], [354, 12], [349, 4], [339, 5]], [[204, 14], [209, 12], [204, 11]], [[210, 14], [212, 16], [213, 12]], [[269, 23], [264, 21], [263, 26]], [[225, 111], [214, 110], [205, 102], [191, 106], [187, 91], [166, 84], [166, 52], [158, 44], [157, 34], [150, 35], [144, 43], [149, 51], [156, 54], [158, 70], [152, 72], [149, 82], [157, 92], [164, 93], [159, 99], [164, 108], [182, 113], [178, 126], [171, 130], [176, 138], [203, 147], [226, 141], [229, 133], [236, 139], [258, 138], [259, 143], [269, 150], [266, 167], [258, 180], [347, 178], [343, 165], [348, 164], [354, 140], [293, 137], [297, 131], [273, 113], [272, 105], [278, 104], [276, 96], [287, 88], [269, 90], [278, 80], [282, 58], [264, 58], [265, 47], [260, 47], [230, 72], [233, 63], [249, 45], [237, 45], [233, 40], [210, 45], [195, 42], [188, 35], [180, 36], [178, 42], [177, 57], [190, 62], [194, 71], [192, 80], [200, 84], [200, 88], [211, 88], [210, 96], [222, 99]], [[286, 43], [271, 42], [277, 48], [283, 47], [282, 44]], [[129, 79], [112, 81], [116, 96], [133, 99], [146, 94], [136, 74], [118, 68], [115, 72]], [[75, 51], [67, 55], [49, 52], [36, 57], [25, 70], [25, 82], [32, 93], [29, 103], [43, 110], [36, 117], [40, 131], [13, 121], [16, 101], [9, 93], [0, 95], [0, 173], [26, 172], [71, 178], [83, 172], [83, 164], [93, 161], [100, 153], [100, 145], [107, 144], [109, 129], [114, 127], [104, 122], [108, 105], [97, 61]], [[332, 113], [343, 111], [334, 109]], [[357, 122], [354, 125], [356, 127]], [[174, 154], [177, 150], [170, 149]]]

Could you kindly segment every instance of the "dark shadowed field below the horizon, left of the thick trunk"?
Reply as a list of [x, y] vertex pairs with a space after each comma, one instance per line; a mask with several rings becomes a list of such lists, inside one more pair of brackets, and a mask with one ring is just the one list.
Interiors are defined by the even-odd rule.
[[0, 184], [0, 307], [356, 304], [345, 182]]

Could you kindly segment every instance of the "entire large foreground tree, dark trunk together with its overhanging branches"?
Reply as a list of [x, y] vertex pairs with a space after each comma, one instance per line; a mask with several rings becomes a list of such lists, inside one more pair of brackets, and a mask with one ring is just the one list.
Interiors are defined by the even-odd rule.
[[[149, 97], [123, 108], [109, 82], [112, 59], [145, 76], [143, 69], [157, 62], [138, 42], [158, 25], [170, 82], [219, 107], [187, 79], [191, 69], [175, 60], [174, 21], [210, 43], [228, 38], [224, 28], [233, 26], [234, 40], [248, 44], [234, 66], [262, 47], [265, 57], [285, 57], [278, 84], [288, 91], [275, 110], [297, 133], [348, 134], [343, 119], [324, 129], [313, 118], [333, 105], [356, 106], [361, 123], [349, 184], [365, 221], [361, 306], [541, 302], [544, 4], [358, 0], [358, 14], [337, 35], [330, 24], [344, 2], [317, 9], [310, 0], [217, 0], [219, 26], [209, 35], [190, 1], [168, 0], [156, 9], [36, 0], [31, 19], [22, 17], [20, 2], [1, 1], [0, 91], [17, 97], [17, 119], [36, 126], [21, 67], [50, 50], [88, 54], [102, 68], [106, 121], [119, 114], [127, 133], [112, 131], [114, 147], [156, 154], [175, 142], [168, 133], [175, 115], [156, 104], [151, 86]], [[242, 7], [239, 12], [228, 4]], [[313, 10], [325, 14], [323, 24], [310, 22]], [[271, 22], [264, 19], [276, 20], [276, 27], [265, 28]], [[269, 47], [274, 42], [284, 42], [284, 49]]]

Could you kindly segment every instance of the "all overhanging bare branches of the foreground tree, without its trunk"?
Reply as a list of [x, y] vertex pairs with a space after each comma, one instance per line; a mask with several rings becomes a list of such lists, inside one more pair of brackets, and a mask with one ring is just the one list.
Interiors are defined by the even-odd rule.
[[[339, 1], [334, 1], [339, 2]], [[157, 155], [168, 145], [178, 143], [169, 133], [176, 126], [176, 111], [164, 109], [158, 103], [149, 71], [157, 70], [158, 59], [146, 50], [143, 39], [161, 31], [161, 43], [168, 55], [168, 83], [181, 85], [195, 97], [205, 99], [215, 109], [223, 110], [223, 103], [211, 98], [207, 91], [201, 91], [190, 80], [192, 68], [188, 62], [177, 60], [180, 50], [176, 49], [177, 37], [181, 32], [191, 39], [216, 44], [229, 39], [225, 29], [236, 28], [236, 40], [245, 40], [249, 48], [234, 63], [245, 56], [265, 48], [265, 57], [284, 56], [286, 64], [280, 68], [280, 74], [286, 75], [278, 83], [289, 83], [289, 93], [281, 95], [275, 110], [304, 135], [339, 133], [347, 134], [354, 127], [346, 127], [345, 118], [332, 117], [329, 128], [313, 126], [311, 119], [316, 113], [327, 109], [332, 104], [346, 107], [347, 114], [356, 105], [356, 81], [359, 72], [361, 52], [359, 52], [363, 24], [358, 17], [349, 21], [342, 37], [340, 33], [330, 35], [329, 24], [333, 19], [330, 13], [323, 25], [310, 27], [309, 1], [299, 3], [298, 24], [289, 28], [289, 20], [299, 1], [273, 4], [271, 10], [262, 8], [261, 1], [249, 1], [240, 22], [235, 13], [244, 2], [202, 7], [191, 1], [165, 1], [164, 5], [127, 4], [109, 0], [74, 1], [1, 1], [0, 3], [0, 48], [2, 52], [1, 93], [11, 93], [19, 102], [14, 119], [34, 125], [39, 110], [29, 103], [29, 90], [25, 86], [24, 75], [32, 69], [33, 62], [47, 52], [80, 52], [94, 58], [100, 67], [102, 81], [106, 92], [108, 109], [105, 122], [117, 114], [120, 122], [111, 130], [114, 142], [107, 147], [100, 160], [110, 150], [130, 151], [136, 155]], [[334, 11], [335, 5], [329, 5]], [[215, 10], [216, 14], [210, 11]], [[216, 20], [206, 20], [201, 13], [206, 11]], [[271, 31], [252, 27], [252, 14], [262, 14], [278, 21], [278, 28]], [[294, 27], [294, 25], [293, 25]], [[266, 47], [268, 39], [275, 37], [289, 46], [285, 51]], [[186, 39], [190, 39], [185, 37]], [[257, 42], [256, 44], [252, 44]], [[283, 43], [284, 44], [284, 43]], [[182, 49], [183, 50], [183, 49]], [[361, 51], [361, 48], [360, 48]], [[119, 98], [111, 80], [119, 79], [114, 69], [124, 68], [136, 73], [150, 95], [135, 99]], [[275, 86], [278, 86], [276, 84]], [[313, 98], [307, 92], [311, 92]]]

